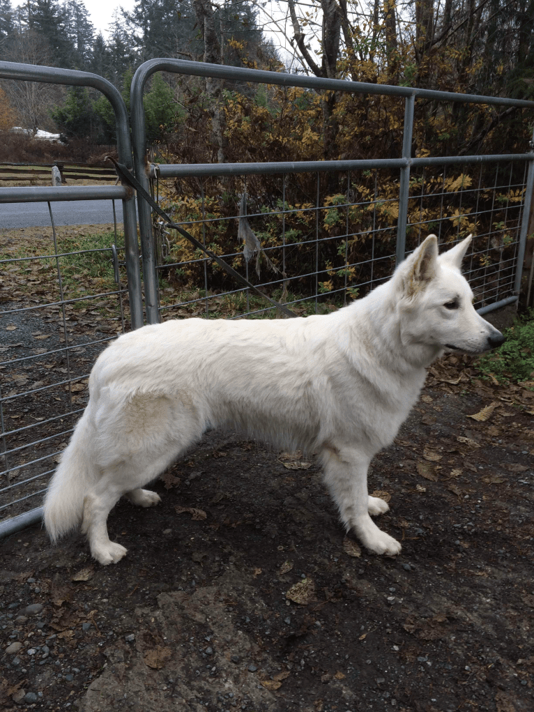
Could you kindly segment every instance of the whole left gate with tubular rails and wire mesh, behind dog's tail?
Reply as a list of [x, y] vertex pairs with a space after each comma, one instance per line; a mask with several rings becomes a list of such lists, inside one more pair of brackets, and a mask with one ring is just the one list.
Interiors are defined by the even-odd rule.
[[[115, 112], [120, 160], [131, 167], [126, 106], [108, 80], [9, 62], [0, 62], [0, 78], [99, 90]], [[75, 200], [121, 200], [124, 246], [115, 246], [115, 241], [106, 247], [62, 241], [52, 204]], [[51, 221], [42, 248], [8, 246], [4, 241], [0, 247], [0, 519], [11, 517], [0, 521], [0, 533], [41, 516], [48, 477], [85, 408], [86, 381], [95, 357], [127, 322], [132, 328], [143, 323], [132, 191], [122, 185], [0, 187], [0, 203], [21, 204], [22, 209], [25, 203], [40, 201], [48, 204]], [[90, 288], [82, 288], [80, 265], [88, 258], [96, 276]], [[116, 283], [111, 286], [98, 277], [102, 261], [115, 266]]]

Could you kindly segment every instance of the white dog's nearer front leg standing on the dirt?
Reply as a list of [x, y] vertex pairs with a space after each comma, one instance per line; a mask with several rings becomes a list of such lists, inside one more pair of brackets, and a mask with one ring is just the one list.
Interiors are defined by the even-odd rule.
[[321, 454], [325, 482], [330, 489], [341, 520], [347, 529], [354, 529], [362, 544], [376, 554], [394, 556], [401, 545], [377, 527], [370, 513], [387, 511], [387, 504], [377, 507], [374, 497], [367, 492], [367, 468], [370, 459], [357, 449], [328, 446]]

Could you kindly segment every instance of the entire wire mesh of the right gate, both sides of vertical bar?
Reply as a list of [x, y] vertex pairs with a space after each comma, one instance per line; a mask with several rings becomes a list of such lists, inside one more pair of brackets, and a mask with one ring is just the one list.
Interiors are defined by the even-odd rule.
[[[155, 182], [164, 209], [249, 281], [299, 315], [364, 296], [395, 267], [399, 194], [388, 169]], [[441, 245], [471, 232], [465, 269], [476, 308], [514, 294], [527, 164], [415, 168], [406, 249], [428, 235]], [[266, 189], [266, 185], [268, 189]], [[245, 201], [241, 202], [245, 196]], [[257, 243], [243, 240], [246, 219]], [[250, 241], [250, 244], [248, 242]], [[187, 239], [157, 230], [161, 318], [273, 315]]]

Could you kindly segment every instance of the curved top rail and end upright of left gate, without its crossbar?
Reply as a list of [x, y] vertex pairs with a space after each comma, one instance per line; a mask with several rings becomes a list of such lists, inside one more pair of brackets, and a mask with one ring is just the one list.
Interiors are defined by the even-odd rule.
[[[91, 74], [89, 72], [78, 72], [77, 70], [60, 69], [58, 67], [40, 67], [16, 62], [0, 62], [0, 78], [16, 79], [26, 82], [88, 86], [98, 89], [109, 100], [115, 112], [119, 160], [121, 163], [124, 163], [128, 169], [132, 169], [130, 125], [126, 105], [120, 92], [111, 82], [108, 82], [107, 79], [103, 79], [98, 74]], [[62, 190], [65, 190], [65, 188], [62, 188]], [[122, 214], [124, 218], [125, 257], [128, 275], [128, 293], [130, 295], [130, 314], [132, 318], [132, 328], [137, 329], [143, 325], [142, 290], [139, 271], [139, 247], [137, 245], [135, 195], [130, 190], [128, 190], [126, 197], [122, 197]]]

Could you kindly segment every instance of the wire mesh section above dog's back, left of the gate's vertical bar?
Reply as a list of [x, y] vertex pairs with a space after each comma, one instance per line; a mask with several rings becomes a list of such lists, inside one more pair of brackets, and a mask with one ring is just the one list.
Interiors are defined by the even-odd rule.
[[[264, 180], [236, 176], [226, 182], [226, 201], [217, 182], [204, 179], [196, 194], [190, 186], [184, 194], [172, 189], [162, 206], [271, 298], [298, 315], [324, 313], [365, 295], [394, 269], [396, 199], [382, 189], [386, 173], [282, 174], [270, 177], [268, 191]], [[162, 319], [276, 313], [181, 235], [158, 231], [158, 243]]]

